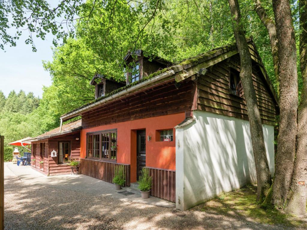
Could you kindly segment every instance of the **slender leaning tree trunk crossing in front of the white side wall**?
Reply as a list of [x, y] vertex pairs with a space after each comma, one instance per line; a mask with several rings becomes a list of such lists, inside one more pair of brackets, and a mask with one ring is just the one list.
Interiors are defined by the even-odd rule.
[[254, 151], [254, 159], [257, 173], [257, 199], [262, 200], [271, 185], [271, 175], [266, 158], [266, 148], [263, 140], [263, 131], [260, 112], [257, 105], [257, 98], [252, 79], [252, 62], [251, 54], [241, 24], [241, 14], [238, 0], [228, 0], [231, 15], [233, 16], [233, 30], [236, 44], [240, 54], [241, 72], [244, 97], [247, 104], [248, 119], [251, 129], [251, 140]]

